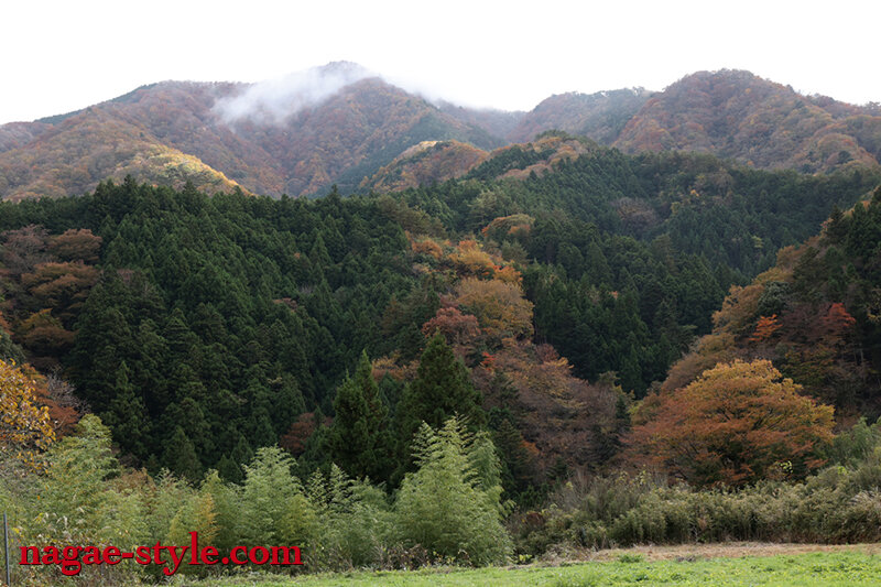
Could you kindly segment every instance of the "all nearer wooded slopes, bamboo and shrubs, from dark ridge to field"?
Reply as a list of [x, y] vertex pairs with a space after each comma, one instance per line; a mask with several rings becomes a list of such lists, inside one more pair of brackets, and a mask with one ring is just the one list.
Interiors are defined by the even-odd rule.
[[48, 374], [4, 371], [0, 504], [312, 568], [877, 540], [878, 182], [550, 133], [394, 196], [1, 203], [0, 358]]

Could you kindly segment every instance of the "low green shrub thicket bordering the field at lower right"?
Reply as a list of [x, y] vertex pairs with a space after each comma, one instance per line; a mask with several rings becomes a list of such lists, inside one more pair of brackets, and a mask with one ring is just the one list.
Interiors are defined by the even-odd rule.
[[804, 482], [696, 491], [644, 475], [576, 477], [553, 496], [551, 507], [518, 514], [509, 528], [516, 552], [527, 555], [563, 546], [881, 540], [881, 447], [870, 432], [858, 424], [835, 445], [835, 460], [850, 468], [833, 465]]

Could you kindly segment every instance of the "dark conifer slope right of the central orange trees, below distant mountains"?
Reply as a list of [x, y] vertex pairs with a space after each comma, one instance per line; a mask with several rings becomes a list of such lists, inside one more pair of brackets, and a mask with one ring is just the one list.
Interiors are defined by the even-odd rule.
[[879, 181], [861, 171], [803, 176], [707, 156], [584, 150], [542, 176], [496, 180], [546, 156], [509, 148], [465, 181], [402, 197], [452, 230], [483, 231], [508, 259], [536, 261], [524, 286], [539, 339], [580, 377], [616, 371], [638, 392], [664, 379], [693, 334], [710, 330], [732, 283]]

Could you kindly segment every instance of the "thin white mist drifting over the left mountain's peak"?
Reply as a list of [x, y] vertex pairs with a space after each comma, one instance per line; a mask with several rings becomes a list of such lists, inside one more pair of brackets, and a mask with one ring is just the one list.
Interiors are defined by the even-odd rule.
[[329, 63], [259, 81], [237, 96], [221, 98], [214, 108], [228, 123], [243, 119], [280, 123], [303, 108], [320, 104], [346, 86], [373, 75], [355, 63]]

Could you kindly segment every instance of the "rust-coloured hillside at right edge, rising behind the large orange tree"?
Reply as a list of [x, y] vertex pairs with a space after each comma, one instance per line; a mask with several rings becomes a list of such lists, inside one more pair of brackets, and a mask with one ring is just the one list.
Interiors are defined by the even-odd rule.
[[671, 393], [718, 362], [762, 358], [835, 405], [839, 420], [877, 417], [879, 239], [881, 188], [847, 214], [836, 208], [819, 236], [782, 249], [773, 268], [732, 287], [713, 333], [671, 368], [662, 389]]

